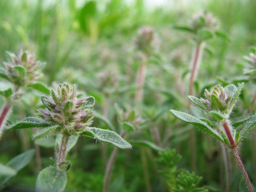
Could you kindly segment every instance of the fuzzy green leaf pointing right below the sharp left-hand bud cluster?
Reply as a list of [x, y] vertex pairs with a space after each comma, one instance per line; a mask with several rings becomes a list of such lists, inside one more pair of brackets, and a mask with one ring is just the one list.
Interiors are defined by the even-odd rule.
[[92, 137], [101, 142], [110, 143], [119, 149], [131, 149], [132, 145], [125, 141], [120, 135], [116, 132], [99, 129], [96, 127], [91, 127], [88, 131], [82, 134], [83, 136]]

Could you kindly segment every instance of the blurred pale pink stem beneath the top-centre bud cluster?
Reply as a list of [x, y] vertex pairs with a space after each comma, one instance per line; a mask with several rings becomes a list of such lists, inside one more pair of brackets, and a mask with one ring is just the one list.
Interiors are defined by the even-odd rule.
[[143, 98], [143, 86], [145, 80], [145, 73], [146, 73], [146, 59], [142, 59], [142, 63], [140, 65], [140, 69], [138, 71], [138, 80], [137, 80], [137, 92], [136, 92], [136, 101], [141, 102]]

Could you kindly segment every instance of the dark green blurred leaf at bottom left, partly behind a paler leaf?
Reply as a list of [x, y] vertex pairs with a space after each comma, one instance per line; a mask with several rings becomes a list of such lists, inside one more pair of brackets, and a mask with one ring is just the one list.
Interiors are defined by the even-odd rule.
[[[11, 159], [6, 166], [13, 168], [18, 172], [25, 167], [33, 158], [35, 150], [31, 149]], [[7, 182], [12, 176], [0, 176], [0, 186]]]

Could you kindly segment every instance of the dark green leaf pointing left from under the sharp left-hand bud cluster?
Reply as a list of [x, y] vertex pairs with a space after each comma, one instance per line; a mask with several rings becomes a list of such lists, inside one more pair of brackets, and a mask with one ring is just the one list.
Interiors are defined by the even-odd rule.
[[5, 126], [5, 129], [25, 129], [25, 128], [35, 128], [35, 127], [49, 127], [50, 124], [36, 117], [27, 117], [21, 121], [14, 124]]

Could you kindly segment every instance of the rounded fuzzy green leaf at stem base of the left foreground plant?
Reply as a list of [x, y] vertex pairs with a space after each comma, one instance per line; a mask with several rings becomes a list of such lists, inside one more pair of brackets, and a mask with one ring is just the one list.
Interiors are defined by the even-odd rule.
[[67, 174], [58, 172], [56, 168], [47, 167], [38, 174], [36, 180], [36, 192], [61, 192], [67, 185]]

